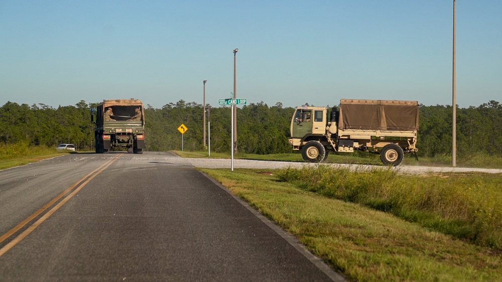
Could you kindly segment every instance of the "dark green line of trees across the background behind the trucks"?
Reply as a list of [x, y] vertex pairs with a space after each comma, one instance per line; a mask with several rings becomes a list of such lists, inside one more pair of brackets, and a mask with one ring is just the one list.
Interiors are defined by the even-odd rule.
[[[98, 103], [84, 100], [75, 105], [53, 108], [45, 104], [7, 102], [0, 108], [0, 143], [26, 143], [31, 146], [55, 147], [60, 143], [75, 144], [77, 150], [93, 151], [94, 125], [90, 109]], [[206, 135], [211, 134], [211, 151], [230, 151], [230, 107], [207, 107]], [[237, 148], [248, 154], [291, 153], [287, 143], [289, 123], [294, 108], [280, 102], [268, 106], [251, 103], [237, 109]], [[181, 150], [184, 124], [185, 151], [202, 151], [203, 105], [179, 100], [162, 108], [145, 105], [147, 151]], [[206, 144], [208, 145], [208, 141]], [[451, 155], [452, 107], [420, 105], [420, 128], [417, 146], [419, 156]], [[502, 104], [489, 101], [479, 106], [457, 107], [457, 154], [469, 156], [484, 153], [502, 157]]]

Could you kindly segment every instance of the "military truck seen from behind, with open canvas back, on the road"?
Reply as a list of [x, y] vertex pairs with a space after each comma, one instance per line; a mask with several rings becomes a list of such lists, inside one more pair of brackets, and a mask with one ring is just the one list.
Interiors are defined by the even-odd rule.
[[114, 148], [125, 147], [128, 153], [143, 154], [145, 111], [140, 100], [104, 100], [91, 112], [92, 122], [94, 114], [96, 153], [109, 153]]

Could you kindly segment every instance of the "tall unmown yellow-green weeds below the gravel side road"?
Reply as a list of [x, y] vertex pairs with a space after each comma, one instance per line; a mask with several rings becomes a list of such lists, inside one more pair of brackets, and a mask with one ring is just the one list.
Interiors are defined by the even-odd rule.
[[502, 253], [500, 174], [400, 175], [318, 166], [278, 172], [282, 181], [358, 203]]

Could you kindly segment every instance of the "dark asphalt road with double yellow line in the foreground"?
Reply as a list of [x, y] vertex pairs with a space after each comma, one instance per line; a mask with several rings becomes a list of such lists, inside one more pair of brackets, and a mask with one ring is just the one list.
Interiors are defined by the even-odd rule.
[[343, 280], [191, 162], [71, 154], [0, 171], [0, 280]]

